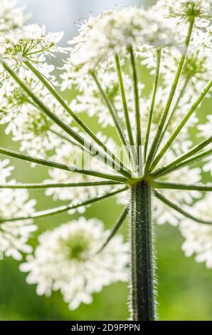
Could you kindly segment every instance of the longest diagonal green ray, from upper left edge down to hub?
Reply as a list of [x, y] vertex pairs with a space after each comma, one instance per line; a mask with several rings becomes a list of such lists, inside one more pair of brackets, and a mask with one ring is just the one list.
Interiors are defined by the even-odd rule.
[[65, 131], [65, 133], [68, 133], [68, 135], [70, 135], [78, 143], [80, 143], [80, 145], [82, 145], [83, 148], [85, 148], [85, 150], [87, 150], [89, 153], [95, 151], [97, 153], [97, 158], [99, 158], [100, 160], [102, 160], [103, 163], [105, 163], [105, 159], [107, 158], [108, 163], [110, 163], [111, 166], [114, 165], [115, 169], [117, 170], [117, 172], [120, 172], [120, 174], [122, 174], [124, 177], [127, 177], [127, 178], [131, 177], [131, 173], [129, 172], [129, 169], [127, 169], [127, 167], [124, 167], [122, 165], [122, 163], [116, 163], [114, 160], [111, 160], [107, 155], [105, 155], [105, 153], [102, 153], [100, 150], [97, 150], [97, 148], [94, 148], [93, 145], [90, 145], [90, 143], [88, 143], [87, 140], [85, 140], [84, 138], [82, 138], [82, 136], [80, 136], [78, 133], [76, 133], [72, 128], [70, 128], [62, 120], [60, 120], [55, 114], [53, 114], [51, 112], [51, 110], [49, 110], [46, 107], [46, 105], [44, 105], [43, 102], [41, 100], [39, 100], [33, 94], [33, 92], [31, 92], [31, 89], [28, 88], [21, 81], [20, 78], [18, 78], [18, 76], [16, 75], [16, 73], [14, 71], [12, 71], [11, 68], [9, 68], [9, 66], [7, 66], [5, 62], [2, 62], [2, 65], [4, 66], [4, 68], [6, 69], [6, 71], [9, 72], [9, 74], [12, 76], [12, 78], [14, 78], [14, 80], [16, 81], [16, 83], [18, 83], [18, 85], [20, 85], [21, 88], [23, 88], [23, 91], [25, 91], [28, 94], [28, 96], [31, 97], [31, 99], [34, 101], [34, 103], [36, 103], [36, 105], [38, 105], [41, 108], [42, 112], [44, 114], [46, 114], [48, 116], [48, 118], [51, 118], [51, 120], [53, 120], [53, 122], [55, 124], [57, 124], [60, 128], [62, 128]]

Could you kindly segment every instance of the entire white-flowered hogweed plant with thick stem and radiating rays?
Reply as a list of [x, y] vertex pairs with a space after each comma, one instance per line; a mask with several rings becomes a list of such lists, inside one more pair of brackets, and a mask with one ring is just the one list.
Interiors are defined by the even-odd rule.
[[[28, 253], [20, 269], [38, 294], [60, 290], [75, 309], [105, 285], [129, 281], [132, 320], [156, 319], [155, 223], [179, 227], [186, 255], [212, 267], [212, 184], [203, 184], [212, 172], [212, 117], [202, 121], [199, 109], [212, 86], [211, 10], [211, 0], [159, 0], [147, 11], [104, 11], [61, 48], [62, 33], [28, 24], [16, 1], [0, 1], [0, 120], [20, 144], [19, 152], [0, 153], [49, 169], [48, 180], [21, 184], [1, 160], [0, 245], [18, 260]], [[59, 82], [55, 53], [64, 53]], [[144, 67], [153, 78], [149, 95]], [[72, 89], [78, 94], [68, 102], [60, 91]], [[98, 132], [80, 113], [98, 121]], [[29, 189], [70, 205], [36, 212]], [[83, 214], [109, 197], [123, 205], [110, 231], [80, 217], [41, 234], [32, 253], [34, 220]], [[130, 247], [115, 236], [127, 216]]]

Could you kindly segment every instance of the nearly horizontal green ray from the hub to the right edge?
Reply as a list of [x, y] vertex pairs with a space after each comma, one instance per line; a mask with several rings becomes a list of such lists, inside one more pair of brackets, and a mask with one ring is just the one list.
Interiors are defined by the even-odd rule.
[[212, 192], [212, 186], [210, 185], [189, 185], [189, 184], [177, 184], [175, 182], [153, 182], [152, 187], [164, 189], [164, 190], [186, 190], [186, 191], [201, 191], [201, 192]]

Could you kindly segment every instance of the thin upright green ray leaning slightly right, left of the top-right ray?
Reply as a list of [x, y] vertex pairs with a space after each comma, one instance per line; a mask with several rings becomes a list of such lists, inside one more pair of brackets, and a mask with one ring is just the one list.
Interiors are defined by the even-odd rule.
[[156, 93], [157, 93], [157, 87], [159, 83], [159, 69], [160, 69], [160, 63], [161, 63], [161, 48], [157, 49], [157, 66], [156, 66], [156, 73], [154, 77], [154, 88], [153, 88], [153, 93], [152, 93], [152, 103], [151, 107], [149, 110], [149, 119], [148, 119], [148, 124], [147, 124], [147, 135], [144, 143], [144, 162], [147, 160], [147, 150], [148, 150], [148, 145], [149, 145], [149, 135], [150, 135], [150, 130], [151, 130], [151, 125], [152, 125], [152, 117], [154, 113], [154, 104], [155, 104], [155, 98], [156, 98]]

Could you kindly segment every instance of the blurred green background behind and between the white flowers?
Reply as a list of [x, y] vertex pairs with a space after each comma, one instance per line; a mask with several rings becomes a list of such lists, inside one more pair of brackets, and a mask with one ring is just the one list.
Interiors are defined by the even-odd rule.
[[[27, 4], [27, 1], [24, 2]], [[147, 82], [151, 83], [151, 78], [147, 73], [141, 74], [142, 77], [146, 75]], [[147, 91], [149, 89], [151, 89], [150, 85]], [[211, 100], [207, 100], [201, 108], [202, 118], [205, 118], [206, 113], [211, 113]], [[85, 120], [89, 125], [90, 120], [88, 118]], [[92, 129], [97, 129], [97, 124], [93, 120]], [[112, 134], [112, 130], [109, 131]], [[18, 143], [12, 143], [11, 138], [4, 135], [3, 127], [0, 128], [0, 140], [1, 147], [18, 149]], [[11, 159], [11, 165], [16, 167], [13, 177], [16, 177], [19, 182], [41, 182], [48, 177], [46, 168], [31, 169], [27, 163], [13, 159]], [[38, 200], [37, 210], [62, 204], [62, 202], [53, 202], [51, 197], [45, 197], [41, 190], [31, 191], [31, 197], [36, 197]], [[114, 206], [114, 201], [111, 199], [92, 205], [88, 208], [86, 217], [97, 217], [105, 222], [106, 227], [112, 227], [121, 210], [121, 207]], [[78, 215], [73, 215], [73, 217], [78, 217]], [[40, 234], [60, 223], [68, 222], [73, 217], [60, 215], [60, 217], [37, 220], [38, 233]], [[161, 227], [156, 226], [155, 230], [159, 280], [159, 319], [212, 320], [212, 271], [206, 269], [205, 264], [194, 262], [194, 257], [184, 257], [181, 251], [183, 239], [176, 228], [167, 224]], [[121, 231], [127, 237], [127, 222]], [[31, 239], [31, 243], [36, 245], [36, 234]], [[26, 284], [26, 274], [19, 272], [18, 265], [18, 262], [10, 258], [0, 262], [0, 320], [80, 321], [126, 320], [129, 318], [127, 284], [106, 287], [100, 294], [94, 295], [92, 304], [82, 304], [77, 310], [69, 311], [59, 293], [53, 294], [51, 298], [38, 297], [36, 287]]]

